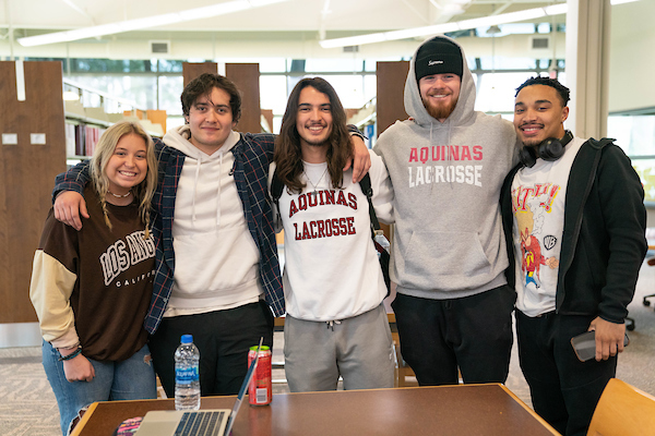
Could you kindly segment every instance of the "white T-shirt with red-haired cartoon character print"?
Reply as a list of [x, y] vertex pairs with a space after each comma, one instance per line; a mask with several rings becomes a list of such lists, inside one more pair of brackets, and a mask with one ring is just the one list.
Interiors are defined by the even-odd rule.
[[537, 159], [512, 181], [516, 308], [527, 316], [555, 311], [567, 184], [584, 140], [574, 138], [556, 161]]

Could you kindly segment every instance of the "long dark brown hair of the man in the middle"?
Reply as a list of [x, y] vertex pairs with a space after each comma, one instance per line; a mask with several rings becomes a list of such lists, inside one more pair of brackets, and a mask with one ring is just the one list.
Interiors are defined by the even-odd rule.
[[344, 167], [352, 158], [350, 135], [346, 128], [346, 112], [336, 95], [336, 92], [325, 80], [321, 77], [303, 78], [291, 92], [287, 107], [282, 119], [282, 129], [275, 140], [275, 154], [273, 160], [277, 168], [279, 180], [291, 192], [302, 192], [306, 183], [302, 182], [302, 153], [300, 150], [300, 135], [296, 129], [296, 117], [298, 114], [298, 100], [300, 92], [311, 86], [323, 93], [330, 99], [332, 112], [332, 132], [327, 138], [327, 172], [332, 180], [332, 187], [341, 189], [344, 177]]

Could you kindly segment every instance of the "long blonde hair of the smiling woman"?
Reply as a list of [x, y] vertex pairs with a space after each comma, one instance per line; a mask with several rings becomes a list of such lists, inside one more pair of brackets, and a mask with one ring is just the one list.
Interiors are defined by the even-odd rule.
[[105, 131], [105, 133], [103, 133], [98, 144], [96, 145], [93, 157], [91, 158], [91, 182], [98, 194], [98, 199], [100, 202], [100, 206], [103, 207], [103, 214], [105, 215], [105, 223], [109, 229], [111, 229], [111, 221], [107, 215], [107, 201], [105, 199], [105, 196], [109, 191], [109, 178], [107, 177], [105, 169], [107, 168], [109, 159], [111, 159], [111, 156], [114, 156], [114, 152], [116, 150], [118, 142], [124, 135], [129, 135], [131, 133], [139, 135], [143, 138], [143, 141], [145, 141], [145, 160], [147, 162], [147, 173], [141, 183], [132, 187], [132, 194], [139, 202], [139, 215], [141, 216], [141, 221], [145, 225], [144, 238], [147, 239], [150, 238], [151, 227], [151, 203], [157, 186], [157, 158], [155, 156], [155, 144], [153, 143], [152, 137], [139, 123], [121, 121], [111, 125]]

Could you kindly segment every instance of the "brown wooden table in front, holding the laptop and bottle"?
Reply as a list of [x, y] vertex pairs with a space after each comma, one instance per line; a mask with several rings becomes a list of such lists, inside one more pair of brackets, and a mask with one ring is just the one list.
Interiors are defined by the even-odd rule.
[[[201, 408], [231, 409], [235, 399], [204, 397]], [[123, 420], [174, 408], [174, 400], [96, 402], [73, 436], [109, 436]], [[264, 407], [245, 400], [231, 434], [558, 435], [498, 384], [279, 393]]]

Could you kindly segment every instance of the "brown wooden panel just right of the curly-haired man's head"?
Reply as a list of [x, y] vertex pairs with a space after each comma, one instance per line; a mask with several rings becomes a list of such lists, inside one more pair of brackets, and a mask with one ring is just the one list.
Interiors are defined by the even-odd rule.
[[235, 128], [239, 132], [262, 131], [259, 63], [226, 63], [225, 76], [241, 92], [241, 119]]

